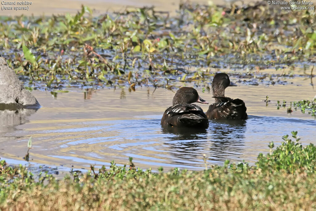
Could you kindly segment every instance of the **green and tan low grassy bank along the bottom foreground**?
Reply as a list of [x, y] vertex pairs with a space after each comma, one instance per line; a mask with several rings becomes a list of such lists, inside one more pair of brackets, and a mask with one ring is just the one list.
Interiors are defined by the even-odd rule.
[[204, 171], [174, 169], [152, 173], [129, 167], [87, 174], [72, 172], [63, 180], [35, 177], [23, 166], [0, 164], [1, 210], [306, 210], [316, 208], [316, 147], [299, 144], [297, 132], [281, 146], [247, 163], [212, 166]]

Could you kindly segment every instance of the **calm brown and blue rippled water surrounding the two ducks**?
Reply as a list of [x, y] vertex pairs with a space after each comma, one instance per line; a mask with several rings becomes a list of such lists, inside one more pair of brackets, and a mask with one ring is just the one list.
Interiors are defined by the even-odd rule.
[[[298, 86], [299, 85], [299, 86]], [[303, 144], [314, 143], [316, 120], [309, 114], [287, 114], [290, 101], [313, 99], [316, 91], [308, 80], [294, 85], [228, 87], [226, 96], [243, 99], [246, 121], [210, 121], [205, 132], [168, 132], [160, 119], [171, 105], [174, 91], [153, 87], [69, 88], [69, 93], [32, 93], [43, 106], [38, 111], [0, 113], [0, 155], [8, 163], [22, 163], [27, 141], [33, 139], [30, 161], [66, 170], [127, 164], [134, 158], [137, 167], [204, 169], [203, 154], [209, 164], [231, 161], [256, 161], [259, 152], [267, 153], [268, 144], [279, 145], [282, 136], [298, 131]], [[211, 93], [197, 88], [200, 96], [213, 102]], [[263, 102], [269, 96], [268, 106]], [[276, 101], [287, 101], [276, 109]], [[200, 104], [201, 105], [201, 104]], [[204, 111], [208, 105], [201, 105]], [[62, 165], [63, 167], [61, 167]]]

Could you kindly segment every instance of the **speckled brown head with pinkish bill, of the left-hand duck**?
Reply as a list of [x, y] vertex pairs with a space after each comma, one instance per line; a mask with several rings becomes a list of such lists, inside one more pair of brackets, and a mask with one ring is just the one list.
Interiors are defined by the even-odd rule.
[[204, 103], [209, 104], [207, 101], [202, 99], [197, 91], [191, 87], [182, 87], [180, 88], [173, 97], [172, 104], [191, 104], [191, 103]]

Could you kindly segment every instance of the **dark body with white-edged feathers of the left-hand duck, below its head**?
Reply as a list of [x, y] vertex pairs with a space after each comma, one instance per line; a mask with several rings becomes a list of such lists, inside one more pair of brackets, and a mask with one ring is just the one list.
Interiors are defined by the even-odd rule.
[[209, 120], [202, 108], [195, 104], [178, 104], [166, 109], [162, 126], [207, 128]]

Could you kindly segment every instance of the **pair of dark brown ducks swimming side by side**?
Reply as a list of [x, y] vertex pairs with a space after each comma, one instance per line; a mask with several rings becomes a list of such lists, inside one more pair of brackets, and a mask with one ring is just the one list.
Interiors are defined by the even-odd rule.
[[209, 119], [246, 119], [246, 106], [241, 99], [225, 97], [228, 86], [237, 86], [230, 82], [225, 73], [218, 73], [212, 82], [213, 98], [206, 113], [202, 108], [192, 103], [209, 104], [202, 99], [194, 88], [182, 87], [173, 97], [173, 106], [167, 108], [161, 119], [162, 126], [208, 128]]

